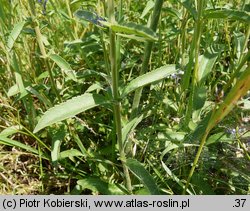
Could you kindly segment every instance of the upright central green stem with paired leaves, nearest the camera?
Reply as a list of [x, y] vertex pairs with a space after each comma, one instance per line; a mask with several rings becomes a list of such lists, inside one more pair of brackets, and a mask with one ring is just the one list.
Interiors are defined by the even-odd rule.
[[[109, 22], [115, 22], [114, 17], [114, 1], [108, 1], [108, 15]], [[121, 124], [121, 102], [119, 96], [119, 73], [117, 70], [117, 57], [116, 57], [116, 34], [112, 30], [109, 32], [110, 38], [110, 66], [112, 75], [112, 93], [113, 93], [113, 103], [114, 103], [114, 121], [116, 128], [117, 144], [120, 153], [120, 159], [122, 162], [123, 172], [126, 180], [126, 187], [129, 193], [132, 193], [131, 179], [129, 175], [129, 170], [126, 165], [126, 155], [124, 152], [123, 142], [122, 142], [122, 124]]]

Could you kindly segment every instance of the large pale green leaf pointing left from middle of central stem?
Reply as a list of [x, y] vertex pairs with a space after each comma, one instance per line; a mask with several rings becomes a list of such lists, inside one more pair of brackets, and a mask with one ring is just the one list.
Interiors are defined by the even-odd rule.
[[83, 94], [49, 109], [38, 121], [34, 133], [56, 122], [73, 117], [83, 111], [107, 103], [102, 95]]

